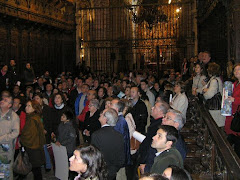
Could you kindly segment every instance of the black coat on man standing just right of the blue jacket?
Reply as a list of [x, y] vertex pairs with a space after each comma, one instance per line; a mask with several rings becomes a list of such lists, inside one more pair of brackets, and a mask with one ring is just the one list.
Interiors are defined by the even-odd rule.
[[133, 119], [136, 124], [136, 131], [145, 134], [145, 126], [147, 125], [147, 107], [145, 103], [138, 99], [137, 103], [133, 106], [130, 113], [133, 116]]

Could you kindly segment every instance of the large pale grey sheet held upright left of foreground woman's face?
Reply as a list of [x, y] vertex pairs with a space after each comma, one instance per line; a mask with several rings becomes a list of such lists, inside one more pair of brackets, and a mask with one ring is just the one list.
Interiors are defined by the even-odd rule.
[[57, 146], [52, 143], [52, 149], [55, 159], [55, 176], [61, 180], [68, 180], [68, 157], [65, 146]]

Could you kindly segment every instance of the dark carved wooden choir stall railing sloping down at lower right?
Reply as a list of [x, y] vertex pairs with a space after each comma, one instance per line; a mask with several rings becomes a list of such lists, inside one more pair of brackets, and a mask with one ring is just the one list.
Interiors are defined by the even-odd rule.
[[[240, 159], [227, 141], [227, 135], [219, 128], [204, 104], [190, 98], [188, 123], [194, 134], [197, 150], [193, 153], [198, 163], [191, 166], [192, 174], [199, 179], [240, 179]], [[191, 149], [190, 149], [191, 151]]]

